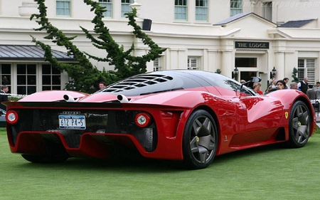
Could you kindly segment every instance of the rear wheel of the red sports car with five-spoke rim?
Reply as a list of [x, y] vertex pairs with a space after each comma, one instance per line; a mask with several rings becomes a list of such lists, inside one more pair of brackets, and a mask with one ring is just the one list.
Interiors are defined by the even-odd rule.
[[218, 147], [218, 129], [206, 110], [193, 112], [183, 132], [183, 167], [203, 169], [215, 157]]

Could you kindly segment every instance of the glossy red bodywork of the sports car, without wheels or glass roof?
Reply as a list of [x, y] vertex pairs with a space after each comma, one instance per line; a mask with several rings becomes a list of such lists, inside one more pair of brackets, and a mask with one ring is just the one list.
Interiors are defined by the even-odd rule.
[[[65, 94], [73, 96], [75, 102], [65, 102], [63, 100]], [[40, 110], [39, 112], [43, 110], [67, 112], [139, 110], [139, 112], [147, 112], [156, 123], [157, 142], [154, 149], [147, 150], [142, 142], [129, 132], [124, 134], [85, 131], [81, 133], [78, 147], [70, 147], [60, 130], [21, 130], [13, 136], [13, 128], [8, 124], [11, 152], [39, 154], [46, 149], [43, 138], [48, 138], [60, 140], [70, 157], [108, 158], [112, 142], [117, 142], [130, 149], [137, 149], [143, 157], [182, 160], [182, 140], [186, 122], [194, 110], [201, 108], [208, 110], [218, 125], [216, 155], [225, 154], [288, 140], [290, 109], [296, 100], [302, 100], [312, 110], [310, 136], [316, 129], [311, 102], [304, 93], [297, 90], [278, 90], [270, 95], [250, 96], [235, 90], [206, 86], [164, 93], [132, 95], [127, 98], [129, 102], [118, 102], [117, 95], [111, 93], [89, 95], [63, 90], [35, 93], [18, 102], [6, 102], [5, 105], [8, 112], [10, 110]], [[284, 134], [281, 140], [277, 138], [279, 132]]]

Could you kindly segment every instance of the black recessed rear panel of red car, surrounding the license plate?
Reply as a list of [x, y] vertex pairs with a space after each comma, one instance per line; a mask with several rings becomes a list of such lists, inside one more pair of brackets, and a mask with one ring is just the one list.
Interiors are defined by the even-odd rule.
[[140, 128], [134, 124], [134, 116], [139, 111], [124, 110], [68, 110], [85, 115], [85, 130], [65, 130], [59, 128], [58, 115], [65, 115], [66, 110], [18, 109], [19, 120], [11, 125], [11, 136], [16, 144], [16, 137], [22, 131], [59, 132], [69, 147], [80, 145], [81, 135], [85, 132], [130, 134], [137, 137], [142, 147], [148, 152], [156, 149], [157, 134], [155, 124]]

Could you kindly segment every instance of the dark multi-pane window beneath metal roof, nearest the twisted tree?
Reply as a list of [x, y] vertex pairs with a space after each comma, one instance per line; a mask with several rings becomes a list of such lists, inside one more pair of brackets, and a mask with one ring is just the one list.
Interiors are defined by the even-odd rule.
[[42, 65], [42, 90], [61, 90], [61, 72], [50, 64]]

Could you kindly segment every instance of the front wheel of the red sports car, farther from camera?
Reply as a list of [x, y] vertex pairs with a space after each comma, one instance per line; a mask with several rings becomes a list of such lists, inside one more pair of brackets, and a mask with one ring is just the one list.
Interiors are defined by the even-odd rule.
[[302, 101], [294, 102], [289, 117], [289, 140], [287, 146], [300, 148], [306, 145], [311, 132], [311, 112]]

